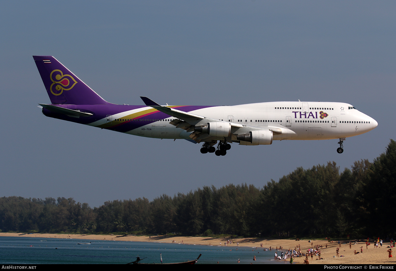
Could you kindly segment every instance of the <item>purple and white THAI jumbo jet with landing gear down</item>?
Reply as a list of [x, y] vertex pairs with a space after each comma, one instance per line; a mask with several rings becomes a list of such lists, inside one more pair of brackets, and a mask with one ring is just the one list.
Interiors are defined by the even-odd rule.
[[[33, 59], [51, 104], [40, 103], [45, 116], [135, 136], [187, 139], [202, 143], [201, 153], [224, 156], [231, 144], [270, 145], [273, 140], [339, 139], [377, 127], [370, 116], [348, 103], [276, 101], [232, 106], [145, 105], [105, 101], [53, 56]], [[217, 143], [218, 142], [218, 143]], [[217, 146], [215, 147], [215, 145]]]

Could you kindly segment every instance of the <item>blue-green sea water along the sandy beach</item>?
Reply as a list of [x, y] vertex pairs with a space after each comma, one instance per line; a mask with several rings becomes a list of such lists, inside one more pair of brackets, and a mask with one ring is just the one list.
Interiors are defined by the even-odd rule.
[[[116, 239], [116, 237], [114, 237]], [[78, 244], [89, 243], [91, 244]], [[237, 250], [238, 248], [238, 250]], [[0, 237], [2, 264], [126, 264], [183, 262], [201, 258], [196, 264], [286, 264], [274, 261], [274, 251], [260, 247], [208, 246], [162, 242], [81, 240], [39, 237]], [[278, 252], [279, 253], [279, 252]], [[253, 256], [256, 260], [253, 261]], [[287, 262], [288, 263], [288, 262]]]

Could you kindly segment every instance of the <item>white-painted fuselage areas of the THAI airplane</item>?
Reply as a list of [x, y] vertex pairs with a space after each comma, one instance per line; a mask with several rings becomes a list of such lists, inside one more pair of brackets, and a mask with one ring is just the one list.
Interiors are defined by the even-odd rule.
[[[141, 108], [144, 111], [150, 107]], [[189, 113], [241, 124], [237, 133], [256, 128], [279, 127], [293, 132], [274, 134], [274, 140], [320, 140], [357, 136], [373, 130], [378, 124], [370, 116], [348, 103], [335, 102], [266, 102], [245, 105], [217, 106]], [[189, 139], [189, 132], [169, 124], [164, 118], [128, 131], [136, 136]]]

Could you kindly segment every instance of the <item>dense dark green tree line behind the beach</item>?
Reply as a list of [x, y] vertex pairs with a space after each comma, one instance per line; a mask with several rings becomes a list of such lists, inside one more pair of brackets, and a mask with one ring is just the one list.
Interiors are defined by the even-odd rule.
[[0, 198], [0, 230], [237, 236], [394, 237], [396, 142], [373, 162], [297, 168], [262, 188], [204, 186], [149, 201]]

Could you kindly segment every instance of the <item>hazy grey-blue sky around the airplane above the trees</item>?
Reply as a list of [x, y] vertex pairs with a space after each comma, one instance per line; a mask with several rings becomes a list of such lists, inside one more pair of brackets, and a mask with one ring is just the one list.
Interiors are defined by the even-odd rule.
[[[2, 1], [0, 197], [107, 200], [263, 187], [297, 167], [372, 161], [395, 138], [394, 1]], [[111, 103], [340, 101], [378, 127], [337, 140], [233, 145], [129, 136], [48, 118], [32, 55], [53, 55]]]

